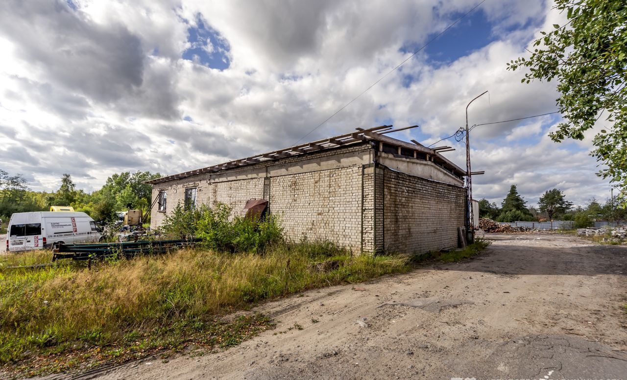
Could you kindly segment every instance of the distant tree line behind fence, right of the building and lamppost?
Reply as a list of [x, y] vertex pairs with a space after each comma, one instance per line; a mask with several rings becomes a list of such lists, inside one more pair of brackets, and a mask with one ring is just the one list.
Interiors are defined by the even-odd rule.
[[487, 199], [481, 199], [479, 217], [499, 222], [568, 220], [574, 221], [577, 228], [591, 226], [595, 220], [627, 219], [627, 209], [621, 207], [621, 202], [616, 196], [607, 199], [604, 204], [593, 198], [586, 206], [575, 208], [572, 206], [572, 202], [566, 200], [561, 190], [551, 189], [540, 196], [537, 209], [528, 207], [525, 199], [518, 193], [516, 185], [512, 185], [501, 207]]

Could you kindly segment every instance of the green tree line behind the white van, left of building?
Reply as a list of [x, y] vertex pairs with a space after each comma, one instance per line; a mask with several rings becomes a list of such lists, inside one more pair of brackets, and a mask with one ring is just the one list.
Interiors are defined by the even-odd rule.
[[142, 209], [148, 211], [152, 186], [144, 183], [161, 177], [159, 173], [137, 171], [116, 173], [107, 178], [102, 188], [92, 193], [76, 189], [70, 174], [63, 174], [56, 191], [32, 191], [21, 174], [9, 176], [0, 169], [0, 219], [8, 220], [13, 213], [48, 211], [50, 206], [72, 206], [96, 221], [108, 222], [116, 211]]

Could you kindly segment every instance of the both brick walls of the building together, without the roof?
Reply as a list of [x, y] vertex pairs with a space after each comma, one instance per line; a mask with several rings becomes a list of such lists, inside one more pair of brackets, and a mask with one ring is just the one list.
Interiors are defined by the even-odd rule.
[[[457, 245], [465, 189], [372, 164], [369, 144], [154, 184], [167, 191], [167, 213], [196, 187], [197, 204], [227, 203], [241, 214], [246, 200], [270, 201], [293, 240], [330, 240], [361, 251], [423, 253]], [[165, 214], [152, 209], [152, 228]]]

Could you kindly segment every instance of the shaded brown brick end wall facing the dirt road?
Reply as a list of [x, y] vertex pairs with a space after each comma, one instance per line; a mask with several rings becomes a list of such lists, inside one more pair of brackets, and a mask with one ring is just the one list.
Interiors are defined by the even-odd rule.
[[[463, 187], [377, 167], [384, 192], [381, 213], [386, 251], [424, 253], [457, 246], [464, 225]], [[377, 219], [377, 223], [378, 223]], [[380, 246], [380, 245], [379, 245]]]

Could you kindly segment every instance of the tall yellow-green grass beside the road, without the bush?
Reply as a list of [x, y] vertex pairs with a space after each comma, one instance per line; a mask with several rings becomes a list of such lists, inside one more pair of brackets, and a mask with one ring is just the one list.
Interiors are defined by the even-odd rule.
[[[4, 265], [36, 263], [41, 255], [24, 253]], [[181, 250], [92, 270], [4, 269], [0, 362], [77, 346], [176, 346], [181, 337], [212, 329], [216, 316], [259, 300], [406, 270], [401, 256], [352, 256], [330, 243], [307, 242], [263, 254]]]

